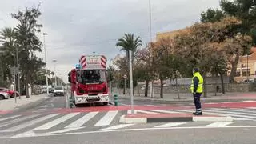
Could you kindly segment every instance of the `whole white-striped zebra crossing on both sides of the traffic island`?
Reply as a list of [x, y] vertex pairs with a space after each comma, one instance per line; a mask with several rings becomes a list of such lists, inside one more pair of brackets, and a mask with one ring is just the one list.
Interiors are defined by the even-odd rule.
[[[193, 112], [194, 110], [135, 110], [138, 113], [145, 114], [177, 114], [184, 112]], [[74, 130], [118, 130], [127, 128], [138, 128], [139, 124], [122, 124], [119, 118], [127, 111], [106, 111], [106, 112], [74, 112], [70, 114], [32, 114], [32, 115], [11, 115], [9, 117], [0, 118], [0, 134], [14, 133], [24, 131], [47, 132], [49, 134], [66, 133]], [[223, 108], [207, 108], [203, 110], [208, 114], [229, 115], [234, 120], [250, 120], [256, 121], [256, 110], [246, 109], [223, 109]], [[240, 122], [242, 122], [240, 121]], [[148, 125], [153, 128], [165, 128], [175, 126], [188, 126], [191, 122], [167, 122], [155, 123]], [[234, 122], [206, 122], [199, 123], [202, 126], [230, 126]]]

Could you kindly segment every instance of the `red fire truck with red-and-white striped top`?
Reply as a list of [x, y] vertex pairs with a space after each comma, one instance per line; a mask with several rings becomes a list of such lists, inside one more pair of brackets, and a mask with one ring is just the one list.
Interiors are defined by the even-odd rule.
[[79, 63], [69, 73], [69, 82], [75, 106], [86, 103], [109, 103], [104, 55], [82, 55]]

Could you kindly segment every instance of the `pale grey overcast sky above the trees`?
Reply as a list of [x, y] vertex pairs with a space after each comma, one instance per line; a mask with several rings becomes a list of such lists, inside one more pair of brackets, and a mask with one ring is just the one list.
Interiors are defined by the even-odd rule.
[[[0, 28], [15, 26], [11, 13], [38, 6], [42, 32], [46, 32], [47, 65], [67, 82], [67, 73], [82, 54], [104, 54], [110, 60], [120, 54], [115, 46], [125, 33], [150, 41], [149, 0], [1, 0]], [[152, 37], [182, 29], [199, 21], [202, 11], [217, 8], [218, 0], [151, 0]], [[42, 39], [42, 34], [39, 34]], [[44, 53], [38, 54], [44, 58]]]

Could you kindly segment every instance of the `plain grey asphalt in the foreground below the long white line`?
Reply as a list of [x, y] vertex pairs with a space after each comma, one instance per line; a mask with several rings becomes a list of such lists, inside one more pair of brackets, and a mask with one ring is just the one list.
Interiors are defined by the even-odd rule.
[[190, 128], [173, 130], [130, 130], [89, 134], [66, 134], [35, 138], [2, 139], [5, 144], [254, 144], [256, 128]]

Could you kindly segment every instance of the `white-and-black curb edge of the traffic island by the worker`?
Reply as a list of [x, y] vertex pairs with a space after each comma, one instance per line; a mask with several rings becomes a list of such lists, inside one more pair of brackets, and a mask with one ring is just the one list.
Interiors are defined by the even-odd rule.
[[176, 118], [126, 118], [122, 115], [119, 122], [122, 123], [152, 123], [152, 122], [233, 122], [233, 118], [213, 117], [213, 116], [195, 116], [195, 117], [176, 117]]

